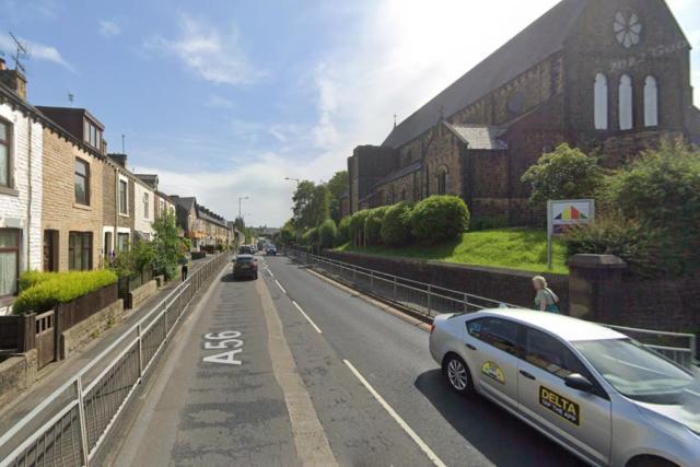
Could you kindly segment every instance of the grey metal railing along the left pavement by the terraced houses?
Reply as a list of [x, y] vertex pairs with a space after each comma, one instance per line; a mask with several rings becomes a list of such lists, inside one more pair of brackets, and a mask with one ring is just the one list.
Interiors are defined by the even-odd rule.
[[0, 436], [0, 467], [88, 466], [162, 354], [197, 292], [228, 264], [221, 254], [194, 271], [138, 323]]

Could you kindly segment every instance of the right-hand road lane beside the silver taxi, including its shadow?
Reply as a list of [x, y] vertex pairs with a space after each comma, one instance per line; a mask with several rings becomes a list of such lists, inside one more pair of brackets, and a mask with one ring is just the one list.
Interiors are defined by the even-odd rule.
[[268, 264], [337, 352], [360, 370], [445, 463], [578, 464], [567, 451], [492, 404], [454, 394], [430, 357], [425, 331], [328, 284], [287, 258]]

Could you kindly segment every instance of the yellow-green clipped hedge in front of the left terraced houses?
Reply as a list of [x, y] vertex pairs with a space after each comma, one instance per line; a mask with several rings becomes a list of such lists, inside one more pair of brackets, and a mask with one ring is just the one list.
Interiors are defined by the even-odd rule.
[[[38, 275], [30, 271], [22, 276], [24, 283], [31, 283]], [[12, 305], [13, 313], [43, 313], [59, 303], [71, 302], [117, 281], [117, 275], [110, 270], [50, 272], [40, 276], [40, 280], [20, 293]]]

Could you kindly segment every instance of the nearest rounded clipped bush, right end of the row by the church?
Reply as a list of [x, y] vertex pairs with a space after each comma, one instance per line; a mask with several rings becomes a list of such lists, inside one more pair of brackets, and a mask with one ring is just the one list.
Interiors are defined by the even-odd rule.
[[411, 233], [419, 242], [446, 242], [469, 227], [469, 209], [459, 197], [431, 196], [416, 205], [410, 223]]

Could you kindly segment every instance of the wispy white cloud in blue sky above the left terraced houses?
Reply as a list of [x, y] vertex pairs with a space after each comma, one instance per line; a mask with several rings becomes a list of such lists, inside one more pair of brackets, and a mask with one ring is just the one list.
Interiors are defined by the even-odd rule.
[[184, 14], [179, 21], [177, 38], [155, 36], [144, 43], [144, 48], [175, 57], [185, 68], [213, 83], [241, 85], [264, 75], [248, 63], [235, 26], [222, 32]]

